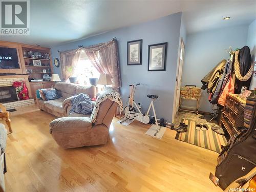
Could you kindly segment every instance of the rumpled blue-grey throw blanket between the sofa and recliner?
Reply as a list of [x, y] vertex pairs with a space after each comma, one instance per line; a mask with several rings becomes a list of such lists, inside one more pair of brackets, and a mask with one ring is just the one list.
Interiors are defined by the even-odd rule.
[[84, 115], [92, 113], [92, 100], [87, 94], [80, 93], [76, 95], [71, 104], [72, 107], [69, 113], [81, 113]]

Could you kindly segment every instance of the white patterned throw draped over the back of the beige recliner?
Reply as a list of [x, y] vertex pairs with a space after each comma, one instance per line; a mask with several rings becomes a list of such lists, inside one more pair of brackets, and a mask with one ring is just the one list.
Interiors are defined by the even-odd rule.
[[110, 99], [119, 105], [120, 112], [123, 111], [123, 102], [119, 92], [115, 88], [106, 87], [105, 90], [97, 97], [93, 112], [91, 115], [92, 122], [96, 121], [99, 105], [106, 99]]

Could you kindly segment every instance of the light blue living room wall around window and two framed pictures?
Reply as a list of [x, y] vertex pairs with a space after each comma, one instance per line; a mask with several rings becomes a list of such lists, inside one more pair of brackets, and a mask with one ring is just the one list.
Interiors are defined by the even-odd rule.
[[[125, 103], [129, 95], [129, 84], [142, 83], [137, 89], [135, 99], [142, 103], [142, 111], [146, 112], [150, 99], [147, 94], [159, 95], [155, 102], [158, 118], [171, 121], [173, 112], [174, 86], [176, 65], [179, 47], [181, 12], [162, 17], [151, 22], [146, 22], [131, 27], [121, 28], [108, 33], [75, 41], [66, 45], [52, 47], [52, 57], [59, 57], [57, 50], [76, 49], [78, 45], [89, 46], [105, 42], [116, 37], [119, 47], [121, 70], [121, 96]], [[142, 65], [127, 66], [127, 41], [143, 39]], [[166, 71], [147, 71], [148, 45], [168, 42]], [[59, 73], [59, 68], [54, 68], [54, 73]]]

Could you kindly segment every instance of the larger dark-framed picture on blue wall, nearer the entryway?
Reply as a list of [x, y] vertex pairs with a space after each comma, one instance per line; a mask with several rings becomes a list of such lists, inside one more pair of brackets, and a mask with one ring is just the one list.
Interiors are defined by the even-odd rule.
[[167, 42], [148, 46], [147, 71], [165, 71]]

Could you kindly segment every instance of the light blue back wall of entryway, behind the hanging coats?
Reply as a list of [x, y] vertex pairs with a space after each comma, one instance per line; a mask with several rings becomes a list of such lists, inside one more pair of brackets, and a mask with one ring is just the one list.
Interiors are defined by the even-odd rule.
[[[222, 59], [229, 58], [224, 49], [246, 45], [247, 32], [248, 26], [242, 25], [187, 35], [182, 86], [194, 84], [201, 87], [201, 79]], [[208, 95], [206, 90], [202, 90], [199, 111], [211, 112]]]

